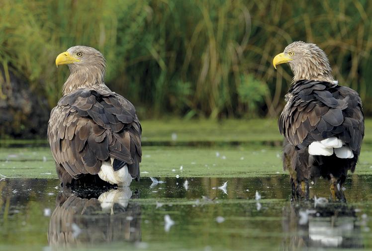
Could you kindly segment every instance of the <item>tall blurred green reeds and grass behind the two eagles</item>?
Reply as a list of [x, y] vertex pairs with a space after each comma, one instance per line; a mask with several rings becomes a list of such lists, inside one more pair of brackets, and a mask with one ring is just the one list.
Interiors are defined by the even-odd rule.
[[45, 138], [74, 45], [104, 54], [141, 120], [223, 120], [278, 117], [291, 73], [272, 59], [313, 42], [371, 116], [371, 16], [369, 0], [0, 0], [0, 138]]

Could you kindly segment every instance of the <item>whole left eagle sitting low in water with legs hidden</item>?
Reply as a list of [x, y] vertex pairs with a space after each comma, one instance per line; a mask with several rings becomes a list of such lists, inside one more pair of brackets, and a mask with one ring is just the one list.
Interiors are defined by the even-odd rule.
[[50, 113], [48, 140], [61, 186], [139, 181], [141, 124], [133, 104], [104, 84], [103, 55], [74, 46], [58, 55], [60, 65], [70, 76]]

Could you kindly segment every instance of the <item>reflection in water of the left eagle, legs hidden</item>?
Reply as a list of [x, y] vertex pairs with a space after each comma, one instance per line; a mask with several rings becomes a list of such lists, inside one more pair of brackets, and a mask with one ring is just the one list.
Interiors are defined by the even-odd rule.
[[140, 206], [131, 203], [130, 197], [129, 187], [105, 192], [64, 190], [50, 218], [49, 245], [59, 250], [79, 244], [141, 241]]

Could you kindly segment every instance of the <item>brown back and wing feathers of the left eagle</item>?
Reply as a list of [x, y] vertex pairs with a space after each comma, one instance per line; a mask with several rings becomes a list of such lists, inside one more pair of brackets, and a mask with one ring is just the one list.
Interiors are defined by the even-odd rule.
[[98, 173], [111, 157], [117, 169], [126, 163], [139, 178], [141, 126], [134, 106], [120, 95], [79, 89], [62, 97], [51, 112], [48, 137], [55, 160], [73, 177]]

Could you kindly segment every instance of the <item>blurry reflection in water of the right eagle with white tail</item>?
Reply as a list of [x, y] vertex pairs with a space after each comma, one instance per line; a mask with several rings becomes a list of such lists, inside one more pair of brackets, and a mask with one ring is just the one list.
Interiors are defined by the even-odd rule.
[[283, 207], [282, 250], [316, 250], [320, 248], [364, 248], [361, 222], [355, 209], [346, 203], [290, 202]]

